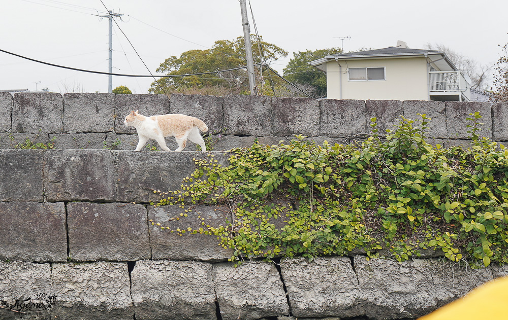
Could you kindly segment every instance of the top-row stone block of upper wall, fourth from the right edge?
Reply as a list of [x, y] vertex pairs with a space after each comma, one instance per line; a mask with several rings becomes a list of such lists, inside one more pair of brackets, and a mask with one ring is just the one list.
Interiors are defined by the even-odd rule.
[[[399, 124], [400, 116], [404, 115], [402, 101], [399, 100], [367, 100], [365, 101], [367, 111], [367, 127], [370, 128], [370, 119], [377, 118], [377, 133], [386, 134], [386, 130], [396, 129], [393, 126]], [[370, 129], [369, 133], [370, 133]]]

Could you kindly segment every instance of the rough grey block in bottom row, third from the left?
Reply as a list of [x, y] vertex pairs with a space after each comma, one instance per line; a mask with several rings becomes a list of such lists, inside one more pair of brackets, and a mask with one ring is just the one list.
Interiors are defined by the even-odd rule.
[[136, 319], [215, 320], [211, 273], [203, 262], [137, 261], [131, 272]]

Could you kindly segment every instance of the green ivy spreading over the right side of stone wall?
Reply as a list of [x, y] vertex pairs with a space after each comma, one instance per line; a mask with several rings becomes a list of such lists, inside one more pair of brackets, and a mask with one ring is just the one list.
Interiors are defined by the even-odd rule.
[[228, 166], [209, 154], [195, 159], [180, 190], [154, 191], [162, 196], [155, 205], [180, 205], [180, 217], [196, 204], [229, 208], [225, 225], [203, 220], [197, 230], [170, 231], [214, 234], [237, 263], [353, 250], [404, 261], [427, 248], [473, 266], [506, 263], [508, 149], [479, 137], [478, 113], [468, 118], [469, 148], [432, 146], [430, 118], [420, 116], [401, 117], [384, 137], [372, 118], [372, 135], [361, 143], [319, 146], [301, 135], [271, 147], [256, 141], [231, 150]]

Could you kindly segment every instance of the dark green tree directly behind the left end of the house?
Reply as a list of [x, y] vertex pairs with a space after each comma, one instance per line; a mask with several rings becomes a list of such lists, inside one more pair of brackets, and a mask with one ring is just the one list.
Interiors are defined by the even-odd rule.
[[293, 59], [283, 69], [284, 78], [298, 86], [306, 86], [313, 89], [314, 97], [326, 96], [326, 74], [309, 64], [312, 60], [324, 58], [327, 55], [342, 53], [340, 48], [321, 50], [307, 50], [293, 53]]

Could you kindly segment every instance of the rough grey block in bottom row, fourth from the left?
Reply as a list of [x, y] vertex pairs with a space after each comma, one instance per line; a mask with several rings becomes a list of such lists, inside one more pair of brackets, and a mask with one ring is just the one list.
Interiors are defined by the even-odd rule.
[[224, 320], [252, 320], [289, 314], [280, 275], [266, 262], [213, 266], [213, 282], [220, 314]]

